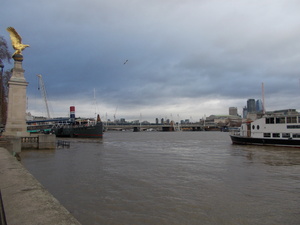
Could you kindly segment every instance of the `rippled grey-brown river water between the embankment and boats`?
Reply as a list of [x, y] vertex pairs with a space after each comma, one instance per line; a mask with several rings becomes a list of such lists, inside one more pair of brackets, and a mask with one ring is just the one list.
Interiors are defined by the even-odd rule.
[[82, 224], [300, 224], [300, 150], [222, 132], [107, 132], [23, 151]]

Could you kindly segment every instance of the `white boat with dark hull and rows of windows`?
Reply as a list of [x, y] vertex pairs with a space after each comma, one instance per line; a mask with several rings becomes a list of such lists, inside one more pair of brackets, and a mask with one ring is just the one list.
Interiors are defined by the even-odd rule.
[[300, 147], [300, 114], [264, 116], [230, 137], [233, 144]]

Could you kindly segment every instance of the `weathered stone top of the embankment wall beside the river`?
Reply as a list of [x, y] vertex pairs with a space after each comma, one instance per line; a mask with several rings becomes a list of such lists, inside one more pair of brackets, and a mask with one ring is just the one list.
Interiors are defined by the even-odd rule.
[[80, 224], [5, 148], [0, 147], [0, 190], [7, 224]]

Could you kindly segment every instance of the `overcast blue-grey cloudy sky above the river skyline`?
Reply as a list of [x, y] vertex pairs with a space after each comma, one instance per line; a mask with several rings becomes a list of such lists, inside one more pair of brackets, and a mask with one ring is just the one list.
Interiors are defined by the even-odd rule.
[[[300, 104], [298, 0], [3, 0], [23, 51], [28, 111], [46, 116], [191, 119], [249, 98], [267, 110]], [[128, 60], [128, 61], [127, 61]], [[124, 64], [124, 62], [126, 62]], [[5, 69], [13, 67], [5, 64]]]

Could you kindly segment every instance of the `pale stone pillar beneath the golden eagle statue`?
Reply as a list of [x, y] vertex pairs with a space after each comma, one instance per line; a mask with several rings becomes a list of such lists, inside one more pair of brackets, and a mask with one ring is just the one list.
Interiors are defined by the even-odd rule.
[[12, 77], [8, 82], [8, 109], [3, 136], [30, 136], [26, 125], [26, 88], [28, 82], [22, 68], [23, 56], [15, 54]]

